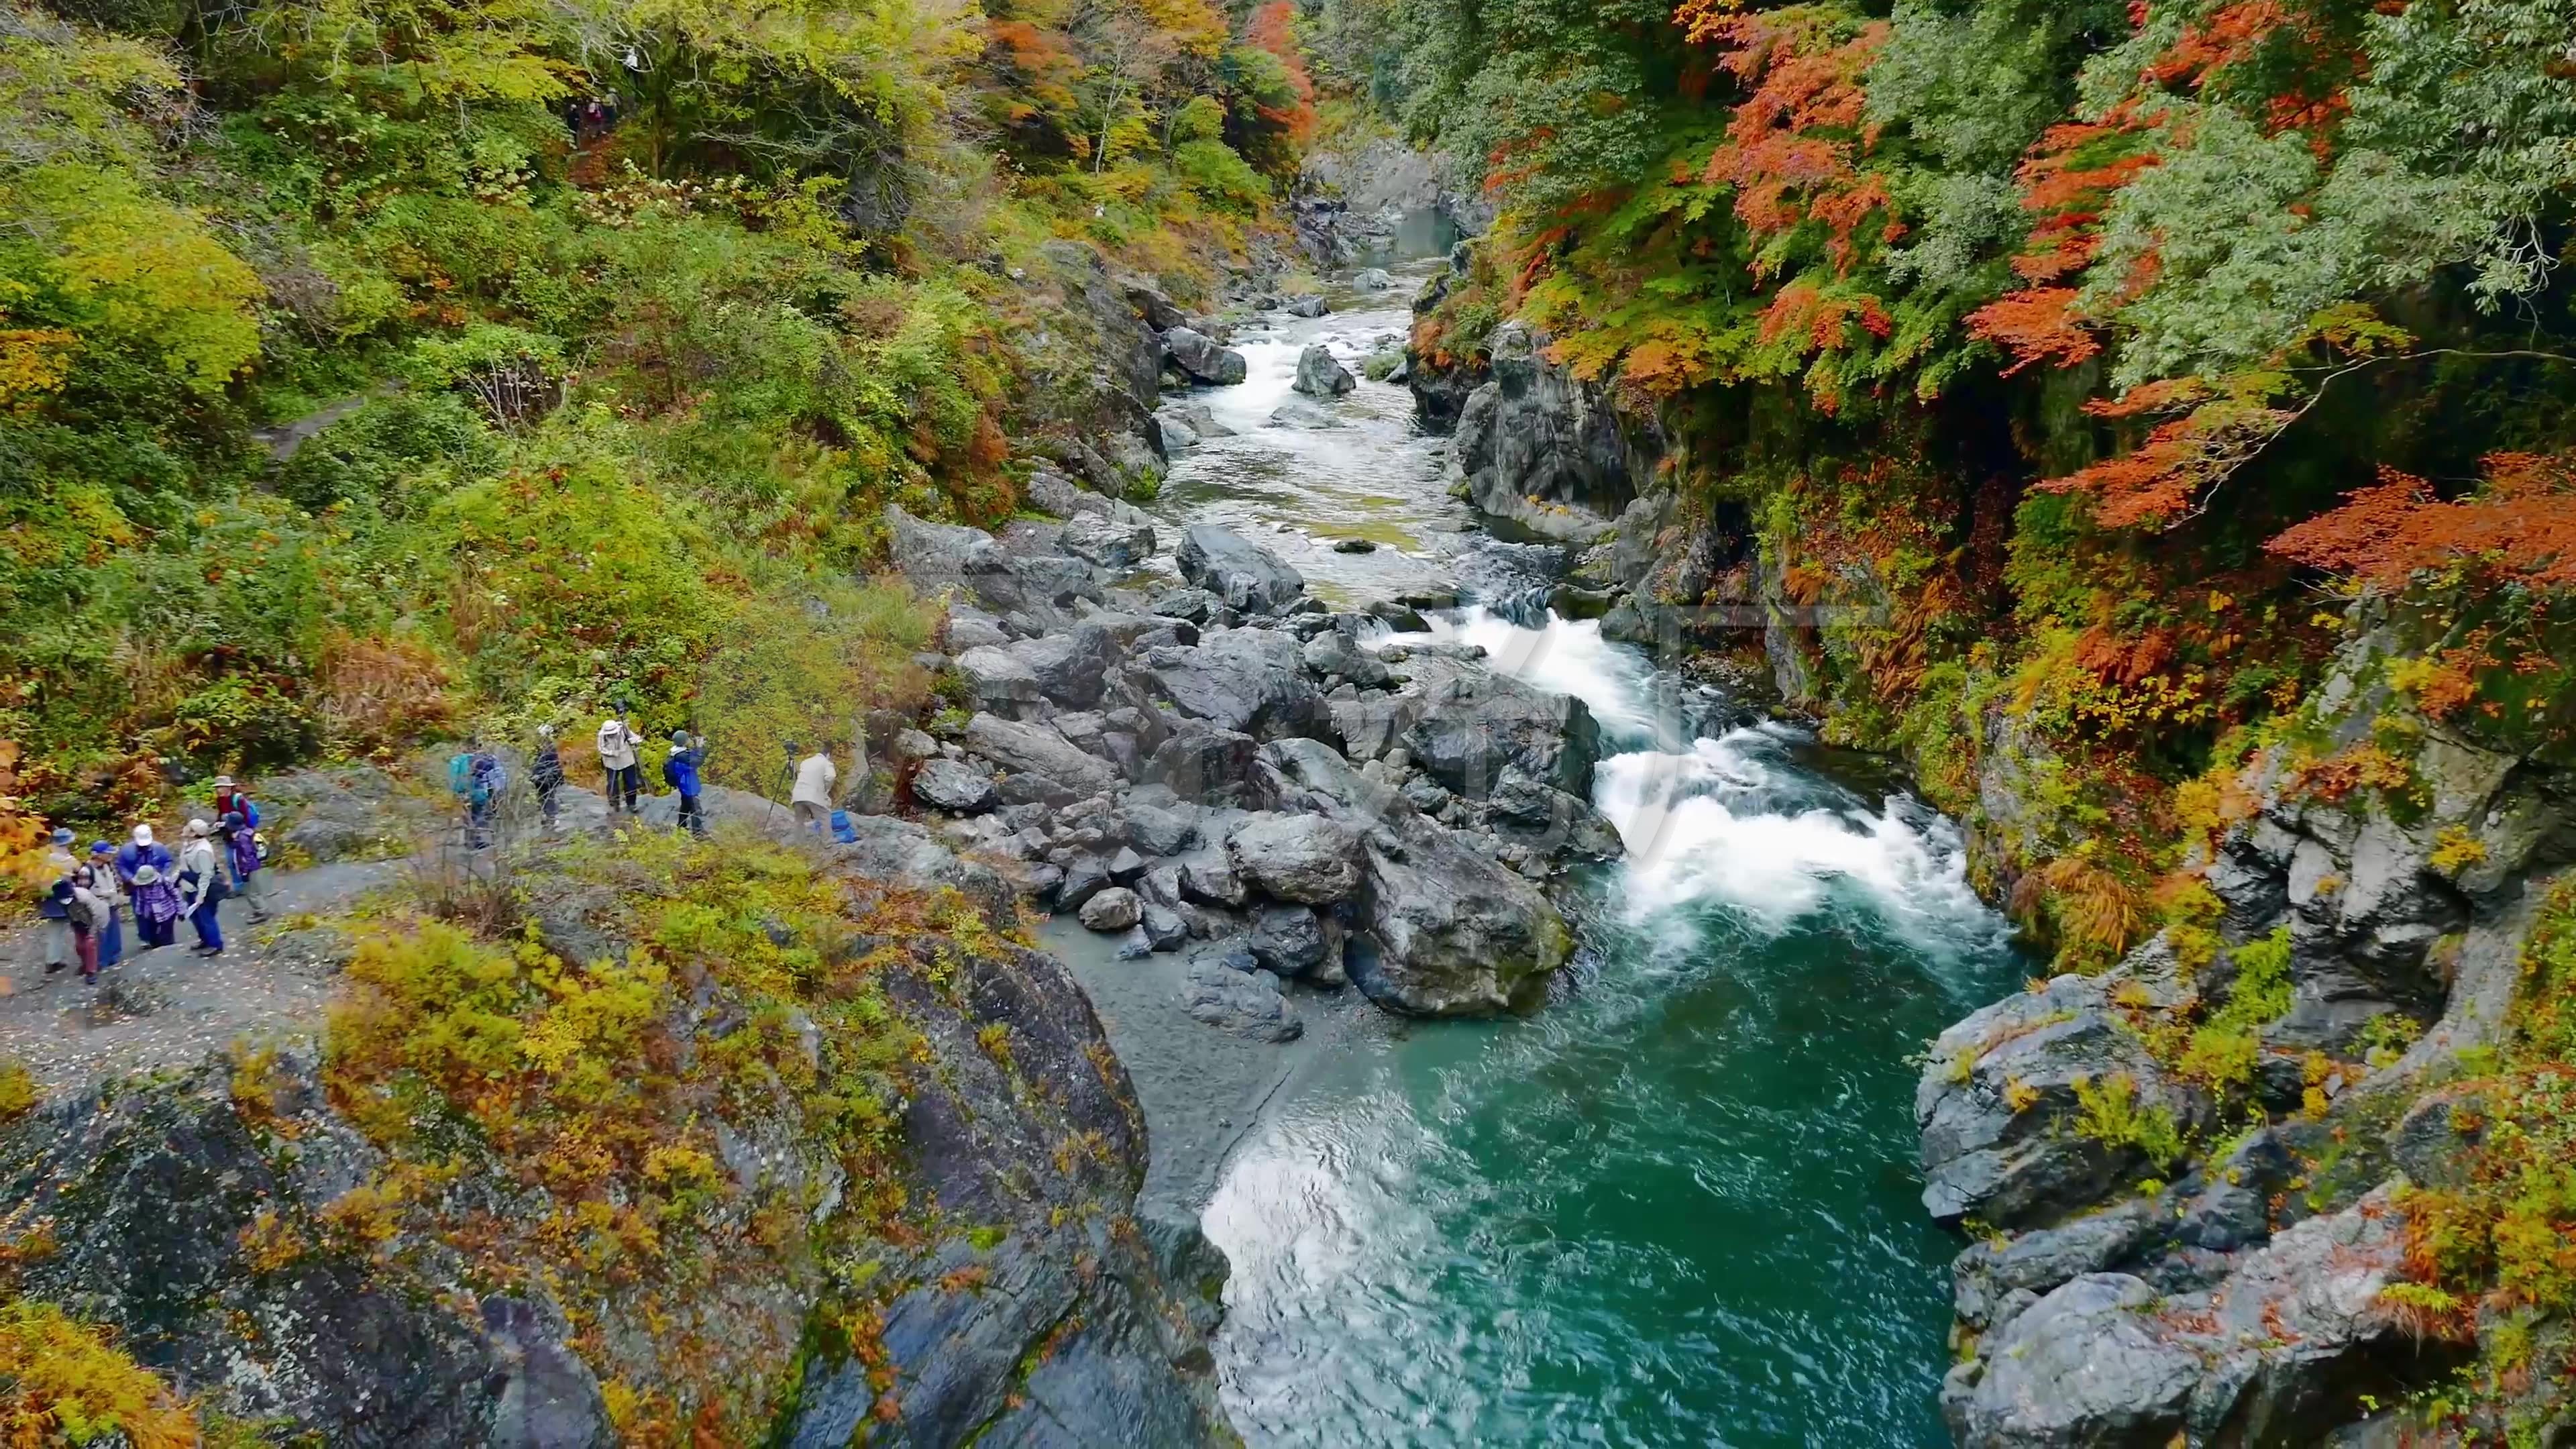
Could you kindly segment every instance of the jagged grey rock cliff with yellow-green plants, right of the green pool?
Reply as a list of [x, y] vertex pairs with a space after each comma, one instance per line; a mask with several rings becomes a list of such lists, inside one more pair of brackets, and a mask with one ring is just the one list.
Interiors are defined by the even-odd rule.
[[[2501, 1042], [2576, 815], [2563, 771], [2372, 686], [2391, 639], [2249, 768], [2208, 936], [1932, 1044], [1924, 1207], [1986, 1232], [1955, 1263], [1963, 1444], [2316, 1444], [2470, 1356], [2383, 1294], [2416, 1271], [2401, 1189], [2465, 1171], [2447, 1083]], [[2342, 784], [2362, 748], [2403, 773]]]

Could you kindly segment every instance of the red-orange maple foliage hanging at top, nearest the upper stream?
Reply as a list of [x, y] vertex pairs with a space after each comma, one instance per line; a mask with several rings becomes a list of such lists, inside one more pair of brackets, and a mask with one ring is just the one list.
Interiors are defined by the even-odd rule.
[[1752, 85], [1705, 178], [1736, 188], [1736, 217], [1759, 235], [1824, 222], [1834, 271], [1850, 273], [1870, 217], [1886, 217], [1880, 242], [1904, 235], [1888, 178], [1855, 168], [1855, 155], [1878, 139], [1862, 119], [1860, 77], [1886, 46], [1888, 26], [1878, 21], [1834, 44], [1811, 10], [1744, 15], [1726, 5], [1682, 0], [1674, 13], [1692, 41], [1721, 46], [1718, 64]]

